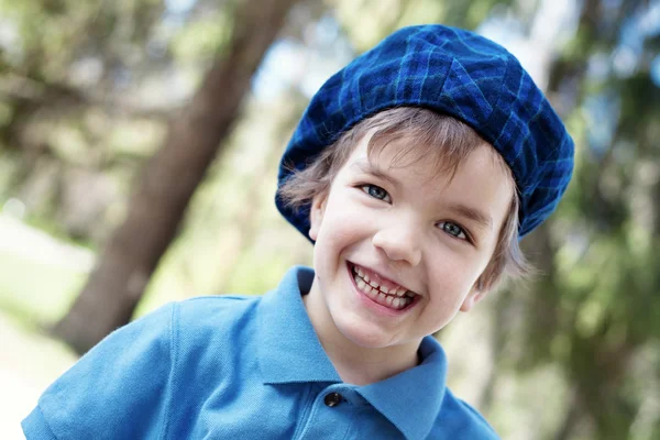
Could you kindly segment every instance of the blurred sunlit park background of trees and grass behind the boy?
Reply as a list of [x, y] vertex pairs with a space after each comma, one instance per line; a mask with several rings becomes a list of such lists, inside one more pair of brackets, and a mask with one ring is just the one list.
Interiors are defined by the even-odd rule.
[[0, 0], [0, 437], [112, 329], [263, 294], [311, 246], [273, 202], [310, 96], [408, 24], [519, 57], [576, 142], [540, 275], [438, 338], [504, 439], [660, 439], [660, 1]]

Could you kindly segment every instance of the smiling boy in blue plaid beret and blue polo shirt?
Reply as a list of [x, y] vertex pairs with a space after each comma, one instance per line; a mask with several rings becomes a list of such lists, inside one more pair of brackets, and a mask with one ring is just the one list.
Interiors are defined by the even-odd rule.
[[29, 439], [495, 439], [430, 334], [525, 262], [573, 143], [504, 48], [397, 31], [330, 78], [277, 207], [315, 242], [263, 297], [195, 298], [116, 331], [40, 399]]

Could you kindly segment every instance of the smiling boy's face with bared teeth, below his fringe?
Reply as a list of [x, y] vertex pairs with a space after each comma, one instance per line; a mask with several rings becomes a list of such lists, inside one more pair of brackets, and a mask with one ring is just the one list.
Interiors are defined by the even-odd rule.
[[425, 161], [391, 167], [405, 140], [370, 158], [369, 138], [329, 194], [312, 200], [309, 296], [317, 297], [306, 304], [321, 333], [339, 330], [364, 348], [416, 348], [484, 296], [475, 283], [493, 255], [514, 186], [487, 144], [450, 178], [433, 175]]

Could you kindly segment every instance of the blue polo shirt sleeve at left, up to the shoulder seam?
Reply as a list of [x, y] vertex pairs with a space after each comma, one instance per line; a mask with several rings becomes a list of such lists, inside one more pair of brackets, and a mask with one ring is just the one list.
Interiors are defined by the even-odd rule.
[[23, 420], [33, 439], [150, 439], [167, 424], [176, 304], [114, 331], [41, 396]]

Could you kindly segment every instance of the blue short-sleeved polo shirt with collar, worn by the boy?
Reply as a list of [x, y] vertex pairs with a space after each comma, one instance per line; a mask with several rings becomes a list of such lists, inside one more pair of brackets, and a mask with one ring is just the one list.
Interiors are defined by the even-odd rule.
[[110, 334], [23, 420], [32, 439], [497, 439], [446, 386], [440, 344], [385, 381], [342, 383], [294, 267], [264, 295], [169, 304]]

